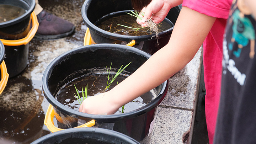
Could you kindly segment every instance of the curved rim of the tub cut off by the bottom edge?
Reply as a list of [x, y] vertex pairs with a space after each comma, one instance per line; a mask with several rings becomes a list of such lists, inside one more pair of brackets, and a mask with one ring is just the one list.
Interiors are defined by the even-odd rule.
[[[70, 129], [64, 129], [60, 130], [58, 132], [50, 133], [47, 135], [44, 135], [43, 137], [35, 140], [31, 144], [38, 144], [42, 143], [47, 139], [57, 139], [58, 136], [66, 136], [66, 138], [78, 138], [78, 133], [83, 133], [82, 138], [90, 138], [91, 135], [98, 134], [100, 136], [113, 136], [117, 139], [125, 140], [129, 144], [140, 144], [135, 139], [129, 137], [128, 135], [125, 135], [120, 132], [116, 132], [114, 130], [109, 129], [103, 129], [103, 128], [70, 128]], [[73, 136], [73, 137], [72, 137]], [[77, 136], [77, 137], [76, 137]]]

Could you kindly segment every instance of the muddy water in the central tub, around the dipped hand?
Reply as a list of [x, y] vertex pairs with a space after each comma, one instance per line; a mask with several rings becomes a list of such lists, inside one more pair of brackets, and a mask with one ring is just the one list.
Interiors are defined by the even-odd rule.
[[[115, 75], [115, 73], [111, 73], [110, 78], [112, 78], [112, 76], [114, 77], [114, 75]], [[114, 82], [110, 85], [108, 90], [111, 90], [114, 86], [117, 85], [117, 82], [120, 83], [127, 77], [128, 77], [128, 75], [120, 74], [114, 80]], [[82, 76], [78, 79], [70, 81], [68, 84], [63, 86], [62, 89], [60, 89], [60, 91], [57, 94], [56, 99], [63, 105], [78, 111], [80, 104], [75, 96], [75, 94], [76, 94], [75, 86], [76, 86], [76, 89], [78, 89], [78, 91], [80, 93], [79, 94], [80, 97], [82, 97], [82, 92], [84, 92], [86, 84], [88, 84], [88, 91], [87, 91], [88, 97], [94, 96], [97, 94], [101, 94], [102, 92], [107, 91], [107, 90], [105, 90], [106, 85], [107, 85], [107, 73]], [[83, 91], [82, 91], [82, 87], [83, 87]], [[133, 111], [140, 107], [145, 106], [146, 104], [151, 102], [155, 97], [156, 97], [156, 94], [155, 94], [154, 90], [147, 92], [146, 94], [127, 103], [124, 106], [124, 113]], [[115, 114], [120, 114], [120, 113], [122, 113], [122, 108], [119, 108], [119, 110]]]

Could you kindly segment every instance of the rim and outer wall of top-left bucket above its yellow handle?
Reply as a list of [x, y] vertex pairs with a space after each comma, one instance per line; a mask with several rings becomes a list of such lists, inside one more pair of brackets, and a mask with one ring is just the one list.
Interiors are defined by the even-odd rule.
[[10, 21], [0, 23], [0, 38], [8, 40], [21, 39], [30, 31], [30, 15], [36, 5], [35, 0], [0, 0], [0, 5], [12, 5], [25, 9], [25, 14]]

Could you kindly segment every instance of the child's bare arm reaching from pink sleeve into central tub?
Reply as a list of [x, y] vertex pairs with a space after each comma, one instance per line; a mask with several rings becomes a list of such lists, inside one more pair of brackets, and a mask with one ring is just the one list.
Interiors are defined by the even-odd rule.
[[113, 114], [124, 104], [159, 86], [193, 59], [214, 21], [214, 17], [182, 7], [169, 43], [112, 90], [84, 100], [79, 111]]

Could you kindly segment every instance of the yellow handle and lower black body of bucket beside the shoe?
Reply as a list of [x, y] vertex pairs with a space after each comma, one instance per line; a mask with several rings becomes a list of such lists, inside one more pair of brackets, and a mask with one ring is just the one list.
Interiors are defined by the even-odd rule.
[[0, 39], [5, 46], [5, 63], [10, 78], [20, 74], [27, 66], [29, 42], [37, 32], [39, 23], [37, 16], [32, 12], [30, 17], [32, 28], [27, 33], [27, 36], [21, 39], [8, 40]]

